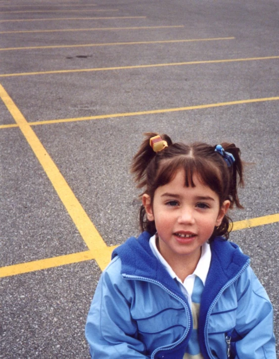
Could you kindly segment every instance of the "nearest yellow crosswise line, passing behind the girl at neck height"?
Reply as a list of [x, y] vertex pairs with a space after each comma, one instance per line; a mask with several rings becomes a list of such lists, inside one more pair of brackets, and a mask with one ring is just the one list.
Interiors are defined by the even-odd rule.
[[[252, 228], [256, 226], [279, 222], [279, 214], [272, 214], [263, 217], [246, 219], [233, 223], [233, 231]], [[94, 255], [91, 251], [79, 252], [65, 256], [57, 256], [46, 259], [34, 260], [27, 263], [19, 263], [8, 265], [0, 268], [0, 278], [17, 274], [29, 273], [37, 270], [55, 268], [61, 265], [74, 264], [86, 260], [96, 259], [101, 263], [101, 270], [107, 266], [110, 261], [111, 253], [117, 246], [106, 247], [100, 251], [95, 251]]]

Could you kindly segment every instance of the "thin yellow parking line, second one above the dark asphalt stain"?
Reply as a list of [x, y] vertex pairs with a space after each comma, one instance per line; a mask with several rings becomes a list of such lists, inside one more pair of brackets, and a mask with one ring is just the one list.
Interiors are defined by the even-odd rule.
[[19, 30], [19, 31], [0, 31], [0, 34], [21, 34], [21, 33], [41, 33], [41, 32], [65, 32], [65, 31], [107, 31], [107, 30], [142, 30], [142, 29], [171, 29], [181, 28], [184, 25], [171, 25], [171, 26], [134, 26], [134, 27], [96, 27], [90, 29], [54, 29], [54, 30]]

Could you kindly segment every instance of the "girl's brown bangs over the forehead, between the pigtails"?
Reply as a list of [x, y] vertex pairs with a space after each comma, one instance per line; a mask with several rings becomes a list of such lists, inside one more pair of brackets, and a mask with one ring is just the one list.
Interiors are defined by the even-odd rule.
[[221, 199], [224, 193], [224, 183], [221, 178], [221, 171], [216, 168], [216, 163], [202, 157], [194, 158], [191, 154], [178, 155], [161, 161], [157, 176], [154, 178], [154, 186], [164, 186], [171, 182], [179, 170], [185, 172], [185, 186], [195, 187], [193, 176], [196, 175], [203, 185], [208, 186], [216, 192]]

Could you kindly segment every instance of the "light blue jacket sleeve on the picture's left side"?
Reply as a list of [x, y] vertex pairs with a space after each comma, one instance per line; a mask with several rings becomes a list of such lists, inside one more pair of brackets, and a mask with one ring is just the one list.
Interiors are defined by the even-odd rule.
[[120, 266], [116, 257], [102, 273], [93, 297], [85, 328], [91, 358], [150, 358], [137, 339], [137, 323], [130, 313], [133, 290], [122, 278]]

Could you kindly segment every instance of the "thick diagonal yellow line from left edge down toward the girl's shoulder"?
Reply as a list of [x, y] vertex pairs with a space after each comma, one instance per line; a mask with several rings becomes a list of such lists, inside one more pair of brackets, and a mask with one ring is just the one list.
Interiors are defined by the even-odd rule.
[[30, 124], [26, 121], [2, 85], [0, 85], [0, 98], [19, 126], [34, 154], [37, 156], [52, 186], [57, 192], [58, 197], [68, 211], [89, 250], [94, 253], [94, 251], [105, 249], [106, 244], [97, 232], [82, 205], [77, 200], [68, 183], [65, 181], [64, 177], [47, 153]]

